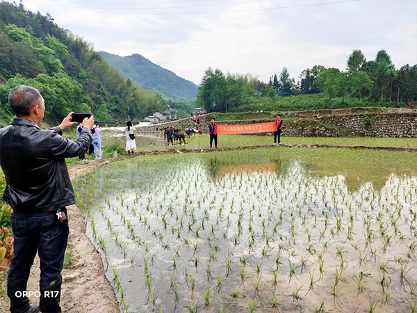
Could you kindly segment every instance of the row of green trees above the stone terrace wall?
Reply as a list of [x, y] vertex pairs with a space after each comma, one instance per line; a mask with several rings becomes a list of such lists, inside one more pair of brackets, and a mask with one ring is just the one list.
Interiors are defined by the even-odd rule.
[[268, 83], [250, 74], [224, 74], [208, 68], [197, 105], [209, 112], [298, 111], [352, 106], [417, 106], [417, 65], [395, 69], [385, 50], [367, 61], [361, 50], [347, 59], [346, 70], [315, 65], [295, 83], [284, 67]]

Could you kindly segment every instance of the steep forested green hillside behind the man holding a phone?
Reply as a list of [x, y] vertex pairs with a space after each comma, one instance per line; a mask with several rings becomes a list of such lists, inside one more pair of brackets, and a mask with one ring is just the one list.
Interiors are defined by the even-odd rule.
[[17, 85], [38, 88], [46, 103], [46, 122], [70, 111], [96, 120], [142, 118], [166, 109], [160, 95], [136, 86], [108, 65], [92, 46], [61, 29], [51, 15], [22, 4], [0, 1], [0, 119], [10, 122], [8, 93]]

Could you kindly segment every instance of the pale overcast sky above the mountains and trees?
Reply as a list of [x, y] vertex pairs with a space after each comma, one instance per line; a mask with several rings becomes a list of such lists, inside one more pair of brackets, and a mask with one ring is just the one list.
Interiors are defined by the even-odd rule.
[[416, 0], [24, 0], [94, 45], [141, 54], [201, 82], [207, 67], [262, 81], [285, 66], [296, 80], [307, 67], [344, 70], [361, 49], [385, 49], [396, 67], [417, 63]]

